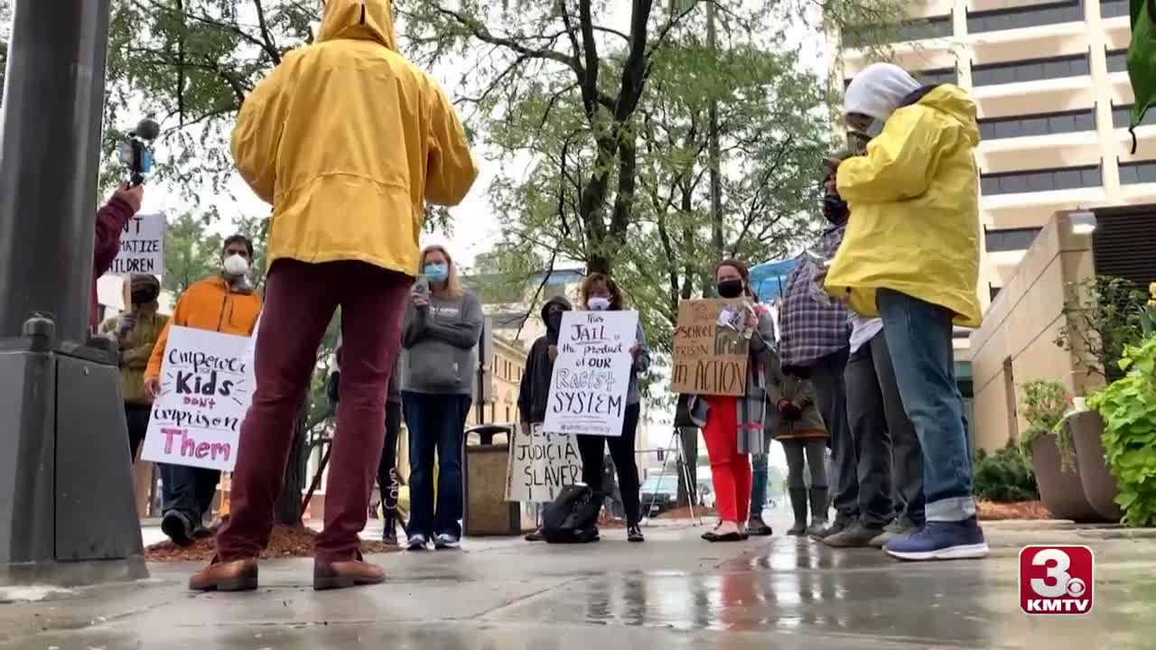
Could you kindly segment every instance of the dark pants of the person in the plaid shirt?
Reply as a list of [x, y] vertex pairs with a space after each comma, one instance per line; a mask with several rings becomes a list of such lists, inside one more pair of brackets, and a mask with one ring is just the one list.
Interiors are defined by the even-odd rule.
[[847, 384], [844, 378], [849, 352], [844, 348], [815, 361], [810, 367], [815, 401], [831, 434], [835, 510], [840, 519], [854, 519], [859, 511], [854, 440], [847, 424]]

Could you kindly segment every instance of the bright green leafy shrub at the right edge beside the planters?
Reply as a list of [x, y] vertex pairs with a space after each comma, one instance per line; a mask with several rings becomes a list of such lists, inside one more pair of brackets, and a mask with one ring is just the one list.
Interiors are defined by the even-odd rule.
[[1156, 524], [1156, 335], [1125, 346], [1126, 372], [1088, 399], [1104, 420], [1104, 456], [1129, 526]]

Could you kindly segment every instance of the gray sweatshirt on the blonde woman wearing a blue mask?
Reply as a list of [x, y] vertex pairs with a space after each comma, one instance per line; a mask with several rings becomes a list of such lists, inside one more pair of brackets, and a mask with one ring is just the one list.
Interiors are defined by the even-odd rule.
[[458, 298], [429, 295], [430, 305], [406, 308], [401, 390], [427, 394], [474, 394], [482, 304], [466, 291]]

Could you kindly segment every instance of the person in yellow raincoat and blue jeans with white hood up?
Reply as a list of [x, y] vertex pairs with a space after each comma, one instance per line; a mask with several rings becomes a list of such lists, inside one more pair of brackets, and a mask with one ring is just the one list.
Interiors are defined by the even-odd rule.
[[843, 161], [839, 194], [851, 216], [825, 288], [881, 317], [896, 379], [924, 453], [926, 525], [884, 546], [903, 560], [983, 557], [953, 323], [980, 322], [976, 104], [951, 84], [920, 86], [891, 64], [847, 87], [847, 124], [882, 132]]

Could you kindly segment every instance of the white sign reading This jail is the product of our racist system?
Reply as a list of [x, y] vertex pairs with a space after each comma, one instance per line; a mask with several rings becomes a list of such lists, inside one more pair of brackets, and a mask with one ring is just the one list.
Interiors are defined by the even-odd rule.
[[621, 436], [638, 334], [637, 311], [568, 311], [558, 332], [543, 429]]

